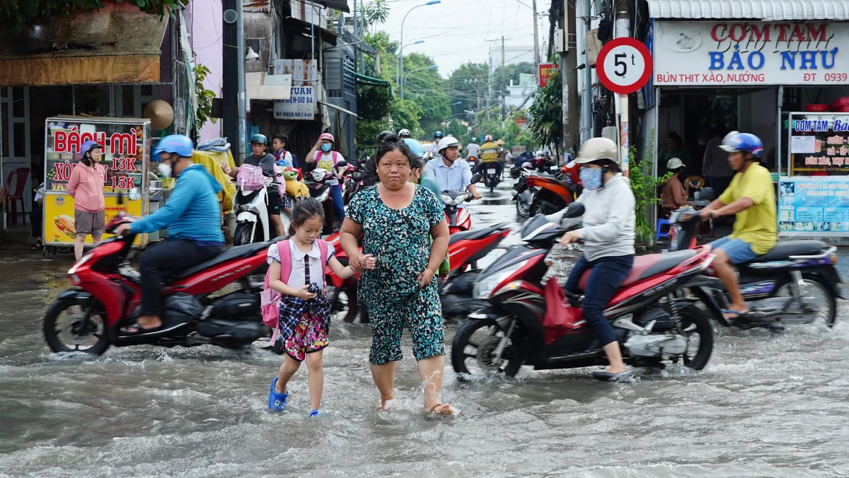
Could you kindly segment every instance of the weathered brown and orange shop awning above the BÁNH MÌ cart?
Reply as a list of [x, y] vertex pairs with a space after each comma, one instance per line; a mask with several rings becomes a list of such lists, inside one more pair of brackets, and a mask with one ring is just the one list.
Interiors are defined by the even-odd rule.
[[53, 15], [0, 42], [0, 86], [153, 83], [167, 17], [129, 3]]

